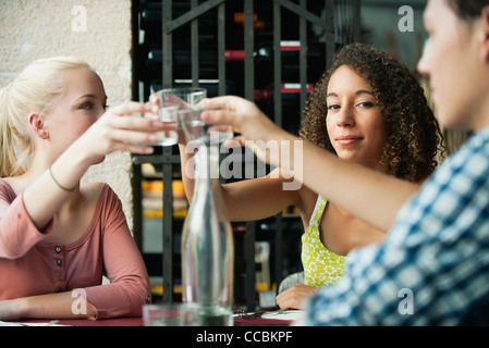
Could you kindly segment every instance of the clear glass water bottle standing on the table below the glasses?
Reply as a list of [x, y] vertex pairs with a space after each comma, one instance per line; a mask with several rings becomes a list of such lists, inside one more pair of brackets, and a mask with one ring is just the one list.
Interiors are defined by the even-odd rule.
[[234, 244], [219, 182], [218, 145], [201, 144], [182, 233], [183, 301], [198, 303], [203, 325], [232, 325]]

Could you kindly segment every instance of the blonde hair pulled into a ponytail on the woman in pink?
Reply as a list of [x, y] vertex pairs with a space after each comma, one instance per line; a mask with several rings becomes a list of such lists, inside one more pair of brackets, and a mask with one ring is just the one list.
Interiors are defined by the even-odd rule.
[[30, 63], [0, 90], [0, 175], [23, 174], [34, 154], [28, 128], [32, 112], [46, 113], [63, 91], [61, 72], [90, 69], [74, 57], [54, 57]]

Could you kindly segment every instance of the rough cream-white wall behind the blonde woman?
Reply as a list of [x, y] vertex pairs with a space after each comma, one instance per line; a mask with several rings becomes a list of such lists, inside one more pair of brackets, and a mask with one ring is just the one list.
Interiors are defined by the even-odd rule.
[[[109, 105], [132, 99], [131, 0], [0, 0], [0, 87], [30, 61], [77, 55], [100, 75]], [[131, 158], [113, 153], [85, 175], [121, 198], [133, 228]]]

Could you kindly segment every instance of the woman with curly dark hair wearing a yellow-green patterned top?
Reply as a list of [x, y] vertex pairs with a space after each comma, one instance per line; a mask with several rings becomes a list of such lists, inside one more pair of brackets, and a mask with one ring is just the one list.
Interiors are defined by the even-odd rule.
[[[316, 84], [304, 114], [301, 137], [343, 160], [416, 185], [437, 166], [441, 137], [424, 90], [405, 65], [378, 49], [360, 44], [342, 48]], [[272, 176], [225, 184], [222, 192], [233, 221], [299, 208], [305, 282], [279, 294], [277, 303], [301, 308], [306, 295], [341, 277], [352, 249], [382, 240], [387, 228], [354, 217], [304, 185], [283, 190], [285, 175]], [[192, 182], [184, 178], [184, 184], [192, 192]]]

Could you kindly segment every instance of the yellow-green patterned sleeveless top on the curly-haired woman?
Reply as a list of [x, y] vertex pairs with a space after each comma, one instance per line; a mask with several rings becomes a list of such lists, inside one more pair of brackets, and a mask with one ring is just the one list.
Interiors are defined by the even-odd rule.
[[318, 196], [316, 207], [310, 216], [309, 226], [302, 236], [302, 262], [304, 268], [304, 284], [325, 286], [337, 283], [343, 274], [346, 258], [329, 251], [321, 243], [319, 222], [327, 200]]

